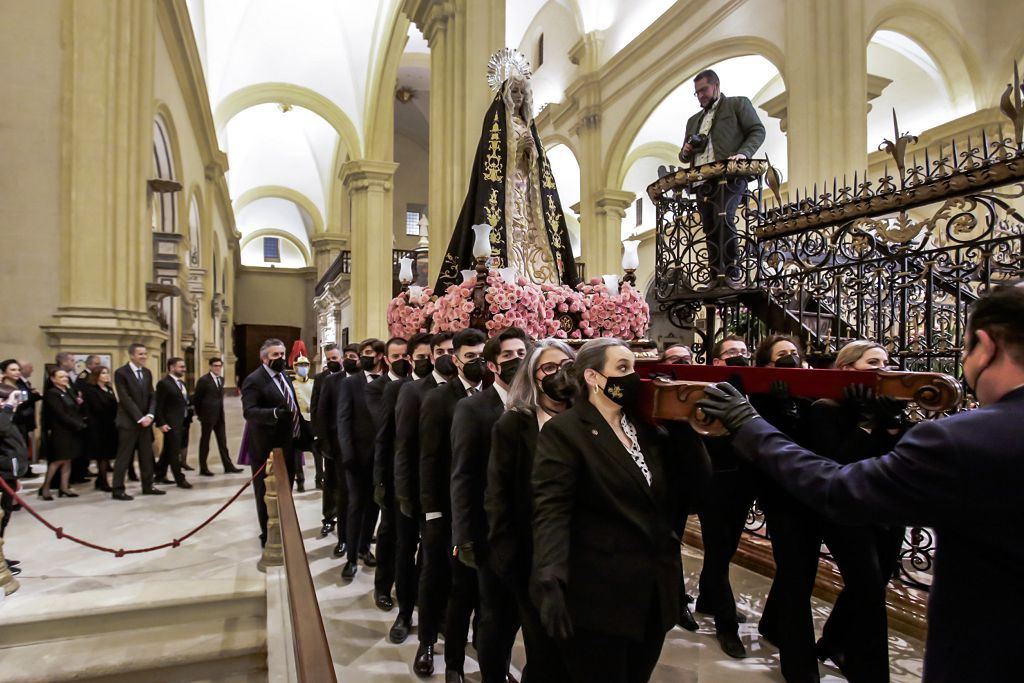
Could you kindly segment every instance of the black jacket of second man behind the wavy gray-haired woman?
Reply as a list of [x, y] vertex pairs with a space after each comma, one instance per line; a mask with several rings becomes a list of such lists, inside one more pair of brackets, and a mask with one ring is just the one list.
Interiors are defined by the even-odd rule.
[[466, 397], [462, 380], [453, 379], [423, 397], [420, 407], [420, 508], [452, 514], [452, 420]]

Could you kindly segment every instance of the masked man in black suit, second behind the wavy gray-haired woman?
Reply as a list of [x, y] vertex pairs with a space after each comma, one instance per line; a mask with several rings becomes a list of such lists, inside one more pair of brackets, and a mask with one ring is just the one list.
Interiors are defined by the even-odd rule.
[[[479, 330], [462, 330], [453, 338], [458, 377], [423, 399], [420, 410], [420, 505], [424, 513], [423, 572], [420, 575], [420, 647], [413, 670], [433, 673], [433, 629], [444, 611], [444, 669], [447, 680], [462, 680], [469, 622], [476, 609], [475, 572], [456, 560], [452, 547], [452, 421], [456, 403], [483, 389], [486, 368]], [[447, 596], [447, 607], [444, 597]], [[426, 633], [425, 633], [426, 632]]]

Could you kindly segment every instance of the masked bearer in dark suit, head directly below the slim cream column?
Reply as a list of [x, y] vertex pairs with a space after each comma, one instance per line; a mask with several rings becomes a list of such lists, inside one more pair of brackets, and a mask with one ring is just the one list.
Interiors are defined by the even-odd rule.
[[338, 385], [338, 445], [341, 464], [348, 486], [348, 538], [342, 581], [355, 578], [357, 562], [376, 566], [370, 552], [370, 540], [377, 525], [377, 504], [374, 503], [374, 438], [373, 417], [367, 404], [367, 387], [384, 372], [385, 344], [379, 339], [359, 343], [359, 372], [346, 377]]

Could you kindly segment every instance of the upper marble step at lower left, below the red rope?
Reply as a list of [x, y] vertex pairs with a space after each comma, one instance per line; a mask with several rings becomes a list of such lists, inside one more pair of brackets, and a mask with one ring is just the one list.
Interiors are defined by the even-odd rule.
[[266, 628], [266, 584], [255, 580], [161, 581], [0, 603], [0, 656], [8, 648], [125, 633], [154, 625], [255, 617]]

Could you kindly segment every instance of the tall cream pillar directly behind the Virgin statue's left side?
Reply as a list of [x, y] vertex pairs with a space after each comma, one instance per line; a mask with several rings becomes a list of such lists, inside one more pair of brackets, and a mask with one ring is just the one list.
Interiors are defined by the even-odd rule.
[[427, 215], [433, 284], [466, 196], [483, 114], [494, 96], [486, 66], [487, 58], [505, 46], [505, 3], [404, 0], [402, 11], [430, 46]]

